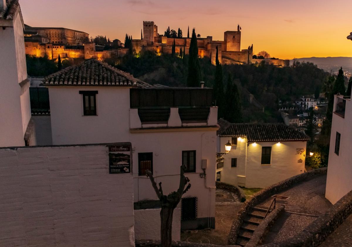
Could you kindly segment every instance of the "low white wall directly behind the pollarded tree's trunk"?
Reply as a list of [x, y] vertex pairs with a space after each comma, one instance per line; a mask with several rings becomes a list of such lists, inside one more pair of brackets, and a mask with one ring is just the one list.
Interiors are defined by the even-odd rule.
[[[134, 210], [134, 236], [140, 239], [160, 239], [160, 210]], [[181, 240], [181, 209], [177, 207], [172, 216], [172, 240]]]

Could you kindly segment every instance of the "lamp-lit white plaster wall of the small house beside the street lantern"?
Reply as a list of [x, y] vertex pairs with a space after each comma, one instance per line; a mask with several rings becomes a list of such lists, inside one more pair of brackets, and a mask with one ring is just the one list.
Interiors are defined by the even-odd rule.
[[[219, 138], [219, 137], [218, 137]], [[220, 152], [225, 152], [225, 144], [231, 138], [221, 137]], [[297, 148], [306, 150], [306, 141], [258, 142], [247, 145], [245, 138], [237, 141], [224, 157], [221, 182], [245, 186], [247, 188], [265, 188], [274, 183], [304, 172], [304, 153], [297, 154]], [[262, 146], [271, 146], [271, 164], [262, 165]], [[231, 158], [237, 158], [237, 167], [231, 167]], [[302, 159], [302, 163], [298, 163]]]

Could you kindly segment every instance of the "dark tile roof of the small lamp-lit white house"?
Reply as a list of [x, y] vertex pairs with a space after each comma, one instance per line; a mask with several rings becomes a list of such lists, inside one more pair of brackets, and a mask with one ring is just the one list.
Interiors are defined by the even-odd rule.
[[218, 121], [220, 137], [243, 137], [252, 141], [308, 141], [309, 137], [283, 123], [229, 123]]

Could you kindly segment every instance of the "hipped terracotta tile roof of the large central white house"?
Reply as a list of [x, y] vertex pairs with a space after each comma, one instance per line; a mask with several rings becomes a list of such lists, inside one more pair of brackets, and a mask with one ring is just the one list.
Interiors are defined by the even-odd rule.
[[104, 62], [89, 59], [79, 65], [67, 67], [43, 79], [44, 86], [134, 86], [150, 88], [152, 85], [134, 78]]

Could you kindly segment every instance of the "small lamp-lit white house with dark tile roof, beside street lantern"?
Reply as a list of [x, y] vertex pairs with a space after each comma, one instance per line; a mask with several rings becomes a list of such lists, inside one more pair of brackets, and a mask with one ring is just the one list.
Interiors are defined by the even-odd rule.
[[[309, 137], [283, 123], [218, 121], [216, 176], [221, 182], [265, 188], [304, 172]], [[231, 143], [226, 153], [225, 144]]]

